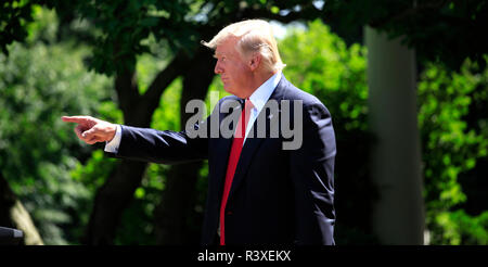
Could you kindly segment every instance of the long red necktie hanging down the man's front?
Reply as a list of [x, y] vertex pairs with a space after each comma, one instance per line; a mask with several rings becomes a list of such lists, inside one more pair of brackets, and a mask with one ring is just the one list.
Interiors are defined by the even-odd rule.
[[246, 99], [246, 104], [241, 113], [241, 117], [237, 123], [237, 127], [234, 132], [234, 140], [232, 141], [232, 148], [229, 156], [229, 163], [227, 165], [226, 183], [223, 185], [222, 202], [220, 204], [220, 245], [226, 244], [226, 205], [229, 196], [229, 191], [232, 186], [232, 179], [234, 178], [235, 167], [237, 166], [239, 156], [241, 155], [242, 145], [244, 143], [244, 137], [246, 135], [246, 125], [249, 122], [251, 110], [254, 107], [251, 100]]

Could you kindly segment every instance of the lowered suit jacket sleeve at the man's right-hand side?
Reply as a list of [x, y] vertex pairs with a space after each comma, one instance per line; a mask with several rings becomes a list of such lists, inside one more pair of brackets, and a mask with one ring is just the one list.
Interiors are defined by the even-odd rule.
[[335, 135], [320, 103], [304, 106], [303, 145], [291, 151], [297, 244], [334, 244]]

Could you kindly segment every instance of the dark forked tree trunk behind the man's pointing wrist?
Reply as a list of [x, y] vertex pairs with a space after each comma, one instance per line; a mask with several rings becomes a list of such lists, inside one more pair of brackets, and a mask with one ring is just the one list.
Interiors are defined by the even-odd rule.
[[[189, 63], [178, 56], [153, 80], [145, 94], [138, 89], [133, 72], [117, 73], [115, 90], [124, 113], [124, 123], [136, 127], [150, 127], [154, 111], [159, 105], [164, 90], [180, 75]], [[93, 211], [82, 243], [112, 244], [124, 209], [130, 204], [147, 163], [123, 160], [102, 188], [97, 192]]]

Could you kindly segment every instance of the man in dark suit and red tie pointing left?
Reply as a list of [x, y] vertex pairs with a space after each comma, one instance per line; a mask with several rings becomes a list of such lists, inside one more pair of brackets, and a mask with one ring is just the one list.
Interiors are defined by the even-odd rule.
[[207, 158], [203, 244], [334, 244], [336, 148], [328, 109], [285, 79], [267, 22], [229, 25], [203, 44], [215, 50], [215, 73], [233, 94], [206, 120], [180, 132], [89, 116], [63, 120], [77, 123], [87, 143], [107, 142], [116, 157]]

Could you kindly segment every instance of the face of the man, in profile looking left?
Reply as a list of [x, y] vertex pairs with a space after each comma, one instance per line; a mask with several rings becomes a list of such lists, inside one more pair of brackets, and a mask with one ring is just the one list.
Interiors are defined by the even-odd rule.
[[249, 66], [241, 58], [235, 49], [236, 39], [228, 38], [217, 46], [215, 58], [215, 73], [220, 74], [223, 89], [239, 98], [244, 98], [243, 93], [249, 90]]

